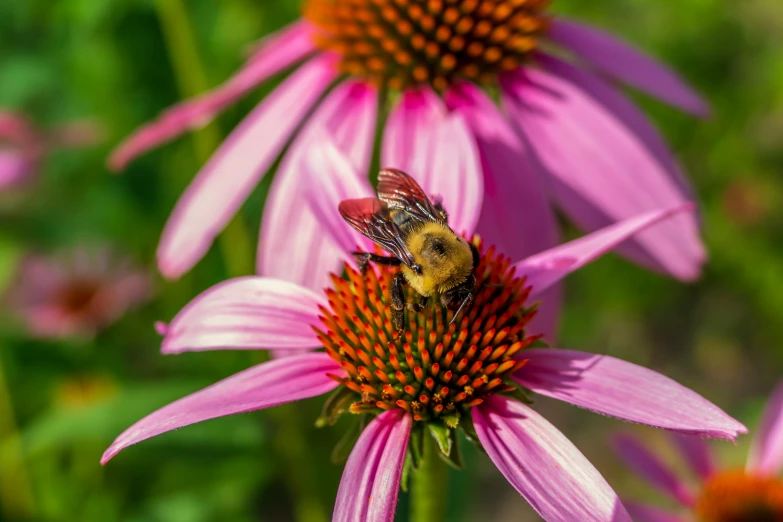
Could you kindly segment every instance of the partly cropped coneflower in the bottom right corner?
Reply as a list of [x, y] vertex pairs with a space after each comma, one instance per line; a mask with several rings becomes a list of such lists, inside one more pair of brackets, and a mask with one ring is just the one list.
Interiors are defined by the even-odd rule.
[[707, 443], [676, 436], [675, 448], [696, 478], [680, 479], [636, 439], [615, 440], [618, 455], [645, 480], [683, 506], [681, 514], [626, 502], [636, 522], [779, 522], [783, 520], [783, 383], [770, 395], [747, 465], [720, 469]]

